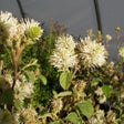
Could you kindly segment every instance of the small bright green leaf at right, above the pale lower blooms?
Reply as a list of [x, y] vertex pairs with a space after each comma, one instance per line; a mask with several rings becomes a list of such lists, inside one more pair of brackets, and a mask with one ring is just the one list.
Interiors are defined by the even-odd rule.
[[104, 92], [106, 97], [110, 97], [111, 94], [113, 93], [113, 87], [112, 85], [103, 85], [102, 91]]

